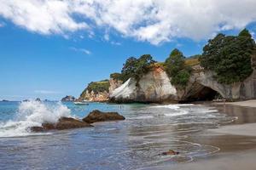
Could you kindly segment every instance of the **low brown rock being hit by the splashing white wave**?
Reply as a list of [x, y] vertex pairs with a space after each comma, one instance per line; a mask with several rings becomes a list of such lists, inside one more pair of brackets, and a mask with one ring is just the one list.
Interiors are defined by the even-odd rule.
[[71, 117], [61, 117], [56, 123], [43, 123], [42, 127], [30, 127], [32, 132], [44, 132], [48, 130], [64, 130], [71, 128], [81, 128], [81, 127], [93, 127], [87, 122], [83, 122]]

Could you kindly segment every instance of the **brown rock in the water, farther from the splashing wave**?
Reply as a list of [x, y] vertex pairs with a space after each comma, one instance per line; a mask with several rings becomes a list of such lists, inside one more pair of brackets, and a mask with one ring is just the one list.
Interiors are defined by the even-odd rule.
[[88, 123], [119, 120], [125, 120], [125, 117], [119, 115], [117, 112], [102, 112], [98, 110], [91, 111], [90, 114], [83, 119], [84, 122]]

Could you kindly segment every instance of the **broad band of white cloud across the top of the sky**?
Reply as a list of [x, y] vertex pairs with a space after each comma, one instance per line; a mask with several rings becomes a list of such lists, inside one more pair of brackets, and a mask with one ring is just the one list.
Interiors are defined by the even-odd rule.
[[0, 0], [0, 15], [42, 34], [86, 30], [93, 37], [103, 29], [160, 44], [242, 29], [256, 21], [255, 7], [255, 0]]

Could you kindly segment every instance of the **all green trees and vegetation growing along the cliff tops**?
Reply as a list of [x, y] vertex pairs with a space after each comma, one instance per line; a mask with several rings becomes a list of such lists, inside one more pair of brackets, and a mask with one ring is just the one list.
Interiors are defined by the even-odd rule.
[[[148, 71], [161, 67], [171, 78], [172, 85], [178, 89], [184, 89], [188, 85], [192, 67], [195, 71], [201, 71], [199, 67], [201, 65], [205, 71], [213, 71], [214, 78], [220, 83], [241, 82], [253, 71], [251, 64], [253, 50], [256, 51], [255, 42], [246, 29], [238, 36], [218, 34], [208, 41], [203, 48], [203, 54], [185, 58], [182, 52], [173, 49], [165, 62], [154, 61], [150, 54], [143, 54], [139, 58], [130, 57], [126, 59], [121, 73], [113, 73], [110, 78], [125, 82], [133, 77], [138, 82]], [[95, 93], [108, 92], [108, 88], [108, 80], [90, 82], [83, 94], [87, 90]]]

